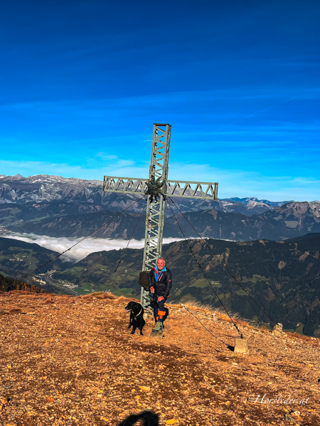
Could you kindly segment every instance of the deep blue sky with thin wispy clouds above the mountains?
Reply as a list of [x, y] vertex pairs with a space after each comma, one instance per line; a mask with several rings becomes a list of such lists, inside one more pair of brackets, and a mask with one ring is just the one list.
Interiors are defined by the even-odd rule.
[[320, 200], [320, 3], [7, 1], [0, 174], [169, 177], [219, 197]]

